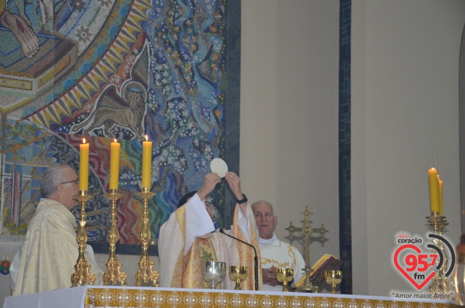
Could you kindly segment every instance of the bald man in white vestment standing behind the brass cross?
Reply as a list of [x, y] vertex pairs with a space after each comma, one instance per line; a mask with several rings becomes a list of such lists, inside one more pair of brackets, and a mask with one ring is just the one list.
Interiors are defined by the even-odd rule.
[[[252, 211], [258, 227], [260, 238], [260, 254], [262, 256], [262, 276], [264, 291], [282, 291], [282, 284], [276, 279], [277, 268], [293, 268], [294, 281], [299, 281], [305, 275], [302, 270], [305, 260], [293, 245], [280, 241], [273, 232], [278, 216], [273, 206], [266, 201], [252, 204]], [[293, 284], [294, 285], [294, 284]]]

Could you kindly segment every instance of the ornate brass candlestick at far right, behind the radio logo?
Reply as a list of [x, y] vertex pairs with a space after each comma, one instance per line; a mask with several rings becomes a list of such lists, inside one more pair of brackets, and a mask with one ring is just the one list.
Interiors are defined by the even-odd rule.
[[[434, 234], [442, 236], [443, 229], [449, 223], [445, 216], [440, 216], [439, 212], [431, 212], [431, 216], [426, 217], [428, 219], [428, 222], [430, 223], [431, 226], [433, 226], [434, 229]], [[446, 277], [446, 272], [447, 272], [447, 255], [446, 251], [444, 250], [444, 243], [438, 239], [433, 240], [434, 245], [438, 247], [442, 255], [444, 256], [444, 260], [442, 263], [442, 266], [440, 269], [436, 270], [436, 274], [433, 277], [433, 284], [430, 286], [430, 292], [431, 294], [449, 294], [450, 289], [449, 289], [449, 280]], [[437, 255], [437, 251], [433, 249], [433, 254]], [[439, 258], [436, 259], [436, 266], [439, 264]]]

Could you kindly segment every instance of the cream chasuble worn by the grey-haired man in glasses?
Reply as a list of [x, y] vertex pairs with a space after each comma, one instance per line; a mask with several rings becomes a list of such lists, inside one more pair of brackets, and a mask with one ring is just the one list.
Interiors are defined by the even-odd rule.
[[[60, 202], [42, 198], [29, 223], [13, 295], [71, 287], [78, 260], [76, 217]], [[85, 258], [96, 278], [103, 272], [86, 249]]]

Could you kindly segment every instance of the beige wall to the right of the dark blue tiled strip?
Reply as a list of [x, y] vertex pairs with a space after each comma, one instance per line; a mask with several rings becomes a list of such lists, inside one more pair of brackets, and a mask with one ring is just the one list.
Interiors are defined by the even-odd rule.
[[459, 241], [464, 23], [465, 1], [352, 1], [354, 293], [413, 291], [391, 253], [399, 231], [428, 230], [432, 166], [444, 180], [445, 235]]

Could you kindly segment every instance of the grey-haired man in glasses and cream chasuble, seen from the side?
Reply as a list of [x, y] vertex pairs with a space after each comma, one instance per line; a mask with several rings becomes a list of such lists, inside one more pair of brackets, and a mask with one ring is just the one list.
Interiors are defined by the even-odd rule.
[[[29, 223], [26, 240], [10, 267], [14, 283], [12, 294], [27, 294], [71, 287], [71, 275], [78, 260], [76, 217], [70, 210], [78, 205], [76, 172], [67, 166], [48, 168], [40, 182], [44, 198], [40, 199]], [[85, 258], [100, 284], [103, 272], [98, 268], [92, 247]]]

